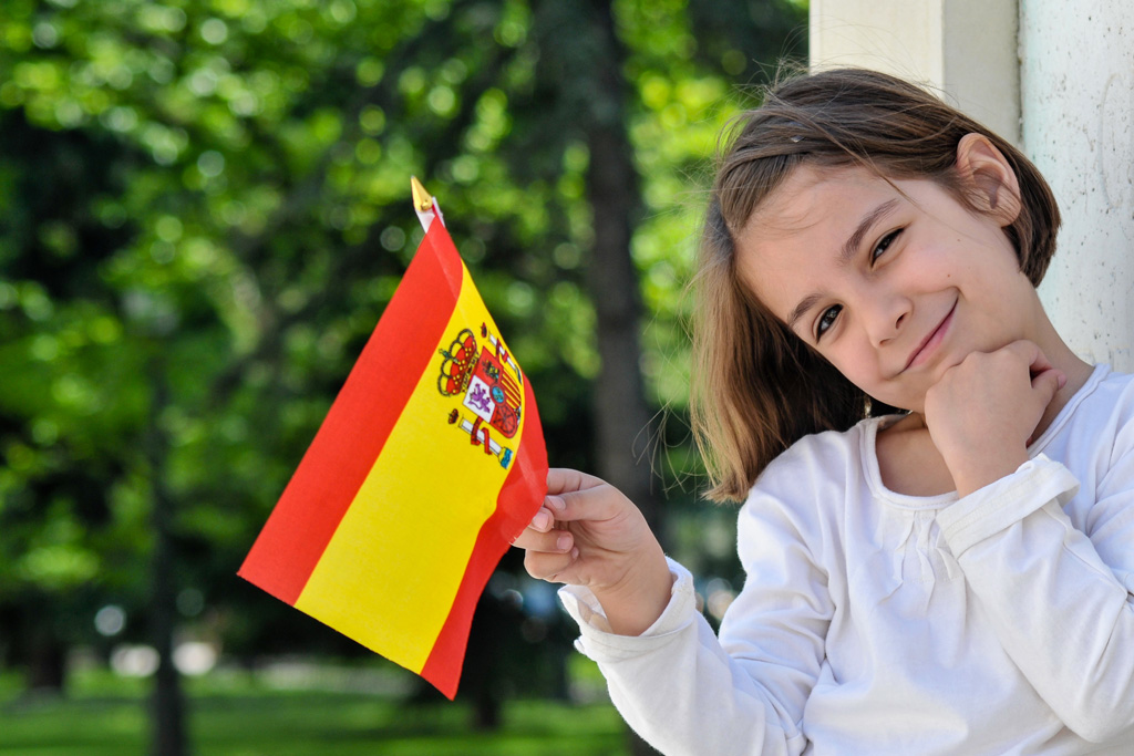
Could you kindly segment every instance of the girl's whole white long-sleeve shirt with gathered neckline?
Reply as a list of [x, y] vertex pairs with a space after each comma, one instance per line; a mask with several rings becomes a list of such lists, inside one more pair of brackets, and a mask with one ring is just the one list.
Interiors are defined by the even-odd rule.
[[560, 596], [665, 754], [1134, 754], [1134, 379], [1095, 368], [1014, 474], [963, 499], [881, 481], [869, 419], [807, 436], [739, 512], [714, 636], [670, 603], [610, 634]]

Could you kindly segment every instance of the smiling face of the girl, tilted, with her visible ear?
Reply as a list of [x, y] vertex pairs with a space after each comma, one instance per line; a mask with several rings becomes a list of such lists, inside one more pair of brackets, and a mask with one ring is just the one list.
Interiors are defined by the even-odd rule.
[[801, 167], [739, 235], [741, 275], [852, 383], [921, 413], [970, 352], [1042, 338], [1039, 298], [1002, 229], [1015, 205], [995, 177], [974, 186], [993, 214], [928, 179]]

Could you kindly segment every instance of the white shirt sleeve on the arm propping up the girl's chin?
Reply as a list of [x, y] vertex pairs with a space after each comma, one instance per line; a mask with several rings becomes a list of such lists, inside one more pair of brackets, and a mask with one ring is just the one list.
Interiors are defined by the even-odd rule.
[[1134, 452], [1102, 478], [1086, 532], [1064, 511], [1077, 490], [1040, 455], [938, 524], [1032, 687], [1070, 730], [1103, 742], [1134, 727]]

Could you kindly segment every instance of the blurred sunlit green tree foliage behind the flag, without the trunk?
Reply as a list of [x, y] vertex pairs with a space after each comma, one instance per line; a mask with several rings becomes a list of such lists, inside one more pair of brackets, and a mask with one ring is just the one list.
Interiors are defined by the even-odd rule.
[[[805, 8], [615, 11], [642, 189], [643, 369], [676, 421], [668, 486], [697, 469], [682, 318], [706, 156], [739, 87], [802, 43]], [[553, 462], [593, 464], [590, 155], [572, 117], [589, 94], [573, 85], [590, 65], [589, 12], [6, 0], [0, 626], [12, 643], [11, 618], [33, 605], [67, 640], [90, 640], [107, 602], [142, 614], [159, 494], [174, 502], [178, 587], [210, 608], [186, 621], [245, 653], [327, 637], [232, 574], [421, 238], [414, 173], [539, 390]], [[132, 620], [127, 635], [141, 631]]]

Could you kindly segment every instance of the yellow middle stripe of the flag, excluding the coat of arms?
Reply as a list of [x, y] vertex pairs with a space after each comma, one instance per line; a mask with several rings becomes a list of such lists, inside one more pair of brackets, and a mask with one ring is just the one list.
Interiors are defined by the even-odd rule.
[[[462, 265], [460, 295], [438, 350], [462, 329], [479, 334], [482, 323], [499, 333]], [[492, 350], [477, 341], [477, 350]], [[415, 672], [445, 625], [477, 533], [508, 476], [497, 457], [471, 443], [459, 423], [449, 424], [455, 408], [476, 418], [462, 407], [462, 397], [438, 389], [443, 360], [434, 352], [295, 603]], [[514, 438], [493, 434], [492, 440], [518, 449], [524, 415]], [[382, 608], [381, 619], [375, 606]]]

